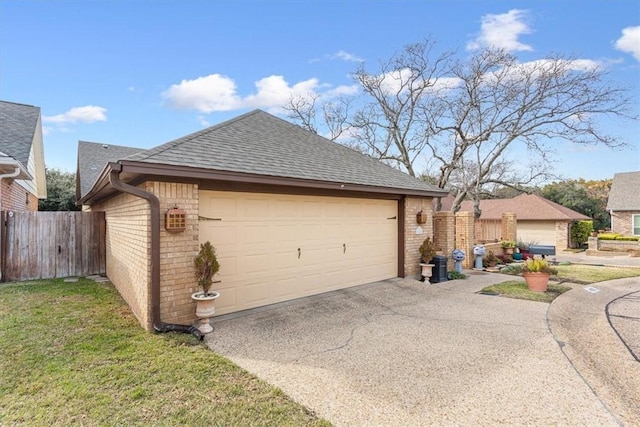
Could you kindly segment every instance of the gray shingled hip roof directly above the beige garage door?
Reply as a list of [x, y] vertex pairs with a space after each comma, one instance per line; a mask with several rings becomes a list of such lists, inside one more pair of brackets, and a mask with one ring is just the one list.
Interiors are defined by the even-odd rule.
[[442, 191], [261, 110], [126, 160], [393, 189]]

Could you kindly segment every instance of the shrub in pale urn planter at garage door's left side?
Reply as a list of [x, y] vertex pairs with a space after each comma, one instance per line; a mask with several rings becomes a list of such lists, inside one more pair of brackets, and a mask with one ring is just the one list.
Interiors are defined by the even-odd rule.
[[195, 275], [201, 291], [191, 295], [196, 302], [196, 316], [200, 319], [198, 329], [203, 334], [213, 331], [209, 319], [216, 312], [215, 300], [220, 296], [219, 292], [211, 291], [213, 276], [220, 270], [220, 263], [216, 257], [216, 249], [211, 242], [200, 244], [200, 252], [193, 260]]

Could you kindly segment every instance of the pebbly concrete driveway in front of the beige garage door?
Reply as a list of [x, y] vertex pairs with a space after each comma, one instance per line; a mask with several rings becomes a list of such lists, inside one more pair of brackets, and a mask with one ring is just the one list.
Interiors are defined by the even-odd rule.
[[[506, 279], [378, 282], [216, 318], [206, 341], [337, 426], [631, 425], [635, 400], [616, 406], [614, 391], [594, 388], [567, 355], [579, 351], [575, 331], [558, 331], [568, 334], [559, 343], [548, 304], [477, 294]], [[556, 301], [571, 307], [583, 293]], [[615, 342], [612, 329], [599, 333]], [[615, 350], [611, 364], [630, 358]], [[623, 374], [640, 380], [632, 362]]]

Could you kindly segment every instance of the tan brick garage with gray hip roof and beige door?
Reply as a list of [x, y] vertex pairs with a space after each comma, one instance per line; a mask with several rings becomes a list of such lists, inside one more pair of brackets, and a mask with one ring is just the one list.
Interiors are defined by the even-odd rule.
[[195, 320], [206, 241], [217, 314], [416, 275], [443, 194], [260, 110], [150, 150], [78, 145], [78, 199], [106, 214], [107, 276], [148, 330]]

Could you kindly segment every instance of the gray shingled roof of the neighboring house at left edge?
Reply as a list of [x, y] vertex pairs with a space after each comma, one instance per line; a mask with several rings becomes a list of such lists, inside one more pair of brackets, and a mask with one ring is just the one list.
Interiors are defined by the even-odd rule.
[[0, 151], [26, 166], [39, 117], [39, 107], [0, 101]]

